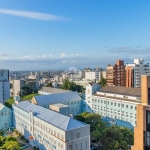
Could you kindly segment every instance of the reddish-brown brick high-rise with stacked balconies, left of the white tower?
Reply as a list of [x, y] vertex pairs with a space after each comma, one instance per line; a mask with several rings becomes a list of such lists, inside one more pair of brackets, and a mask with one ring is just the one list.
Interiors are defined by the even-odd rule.
[[114, 66], [106, 67], [106, 83], [109, 86], [125, 86], [126, 73], [123, 60], [117, 60]]

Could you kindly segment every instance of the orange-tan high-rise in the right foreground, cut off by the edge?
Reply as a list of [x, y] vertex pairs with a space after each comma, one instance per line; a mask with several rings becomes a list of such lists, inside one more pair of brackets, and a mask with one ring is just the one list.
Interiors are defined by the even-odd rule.
[[141, 103], [137, 105], [137, 126], [132, 150], [150, 150], [150, 76], [141, 76]]

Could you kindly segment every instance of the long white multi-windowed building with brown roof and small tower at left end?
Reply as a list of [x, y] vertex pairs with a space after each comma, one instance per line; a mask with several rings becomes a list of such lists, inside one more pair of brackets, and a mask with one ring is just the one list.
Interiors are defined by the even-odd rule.
[[136, 126], [136, 105], [140, 102], [140, 88], [105, 86], [99, 91], [90, 85], [86, 88], [86, 111], [129, 128]]

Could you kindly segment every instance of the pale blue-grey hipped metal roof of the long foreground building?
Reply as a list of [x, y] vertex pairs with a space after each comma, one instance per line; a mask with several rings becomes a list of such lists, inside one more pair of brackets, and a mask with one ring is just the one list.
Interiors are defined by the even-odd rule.
[[71, 117], [64, 116], [60, 113], [32, 104], [28, 101], [22, 101], [18, 105], [13, 105], [13, 107], [14, 106], [26, 112], [32, 111], [34, 112], [34, 116], [37, 118], [40, 118], [43, 121], [65, 131], [88, 126], [87, 124], [77, 121]]

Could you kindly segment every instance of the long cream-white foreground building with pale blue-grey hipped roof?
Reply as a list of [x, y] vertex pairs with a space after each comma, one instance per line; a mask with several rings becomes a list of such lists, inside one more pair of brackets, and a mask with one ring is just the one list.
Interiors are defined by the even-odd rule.
[[90, 150], [90, 126], [27, 101], [13, 105], [14, 127], [40, 150]]

